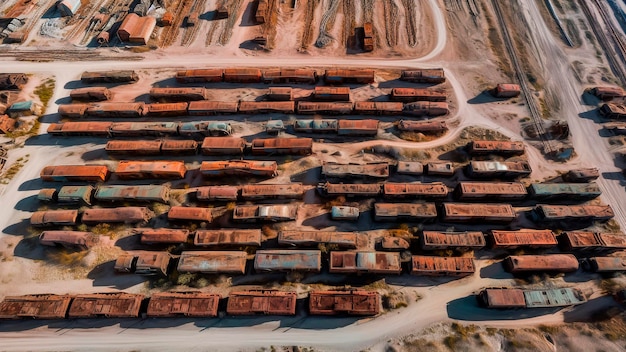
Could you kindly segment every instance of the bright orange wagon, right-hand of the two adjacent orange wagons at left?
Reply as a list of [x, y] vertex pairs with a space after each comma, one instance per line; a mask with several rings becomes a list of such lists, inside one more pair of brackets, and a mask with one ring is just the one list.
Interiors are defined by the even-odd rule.
[[120, 179], [180, 179], [185, 178], [187, 168], [182, 161], [120, 161], [115, 176]]

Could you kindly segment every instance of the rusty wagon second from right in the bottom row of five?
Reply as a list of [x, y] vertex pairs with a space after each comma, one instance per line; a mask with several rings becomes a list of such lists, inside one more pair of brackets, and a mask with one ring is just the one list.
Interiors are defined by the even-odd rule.
[[232, 291], [226, 313], [230, 315], [296, 315], [296, 292], [277, 290]]

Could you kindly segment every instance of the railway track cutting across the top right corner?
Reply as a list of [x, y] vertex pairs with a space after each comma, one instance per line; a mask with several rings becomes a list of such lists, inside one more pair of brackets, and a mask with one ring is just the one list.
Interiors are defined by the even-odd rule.
[[602, 49], [605, 52], [611, 71], [613, 71], [613, 74], [620, 81], [621, 85], [626, 85], [626, 70], [624, 68], [624, 62], [626, 62], [626, 44], [624, 44], [620, 38], [618, 30], [615, 29], [613, 22], [611, 22], [611, 19], [602, 4], [598, 0], [592, 0], [592, 2], [598, 9], [598, 13], [600, 14], [600, 17], [602, 17], [602, 21], [604, 21], [614, 45], [609, 43], [609, 38], [607, 38], [606, 34], [602, 30], [602, 27], [591, 14], [587, 1], [581, 0], [579, 1], [579, 4], [585, 14], [585, 17], [587, 17], [589, 24], [591, 25], [593, 33], [596, 38], [598, 38], [600, 46], [602, 46]]

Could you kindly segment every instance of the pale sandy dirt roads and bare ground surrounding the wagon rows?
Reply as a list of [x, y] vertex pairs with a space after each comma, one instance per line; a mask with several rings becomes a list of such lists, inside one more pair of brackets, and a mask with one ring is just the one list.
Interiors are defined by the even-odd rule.
[[[400, 1], [397, 1], [400, 4]], [[454, 92], [455, 112], [449, 117], [454, 128], [442, 138], [422, 143], [406, 142], [399, 139], [372, 140], [353, 143], [328, 143], [316, 145], [316, 151], [322, 148], [342, 150], [346, 155], [384, 144], [399, 148], [433, 148], [453, 142], [458, 138], [461, 130], [466, 127], [483, 127], [493, 129], [514, 140], [521, 140], [519, 124], [520, 118], [528, 115], [522, 104], [510, 102], [494, 102], [474, 100], [492, 82], [507, 79], [504, 73], [499, 72], [497, 65], [489, 60], [495, 58], [492, 54], [485, 54], [485, 47], [489, 44], [481, 35], [472, 35], [470, 40], [464, 41], [459, 35], [469, 30], [480, 31], [473, 20], [466, 14], [444, 10], [442, 4], [436, 0], [421, 2], [428, 11], [432, 10], [433, 27], [432, 42], [425, 45], [428, 50], [411, 52], [411, 59], [380, 60], [374, 57], [359, 55], [333, 57], [332, 64], [337, 66], [376, 67], [377, 69], [404, 68], [404, 67], [443, 67], [446, 70], [449, 91]], [[427, 7], [426, 7], [427, 5]], [[208, 5], [207, 5], [208, 6]], [[611, 146], [607, 139], [598, 133], [600, 125], [591, 118], [581, 117], [592, 110], [593, 106], [585, 105], [581, 101], [581, 92], [588, 86], [589, 80], [600, 74], [599, 70], [586, 71], [589, 79], [581, 82], [572, 76], [570, 65], [582, 61], [590, 67], [600, 66], [601, 62], [592, 60], [595, 50], [592, 46], [564, 48], [558, 38], [554, 36], [545, 23], [545, 18], [539, 13], [540, 3], [535, 1], [523, 2], [520, 7], [523, 11], [519, 20], [524, 21], [527, 28], [529, 46], [536, 52], [538, 72], [543, 77], [544, 89], [554, 95], [559, 101], [558, 109], [554, 113], [566, 119], [569, 123], [572, 144], [576, 149], [576, 157], [567, 164], [547, 162], [541, 153], [529, 145], [528, 157], [533, 167], [532, 179], [544, 179], [553, 176], [557, 171], [564, 171], [577, 167], [598, 167], [603, 177], [598, 180], [603, 190], [602, 201], [611, 204], [616, 221], [626, 228], [626, 192], [624, 179], [614, 164]], [[484, 7], [482, 8], [484, 10]], [[321, 10], [318, 9], [316, 18]], [[240, 13], [240, 16], [243, 14]], [[293, 14], [294, 17], [302, 14]], [[480, 16], [488, 16], [481, 12]], [[358, 16], [357, 16], [358, 17]], [[423, 15], [424, 17], [424, 15]], [[455, 24], [451, 24], [451, 21]], [[457, 20], [459, 20], [457, 22]], [[484, 20], [484, 18], [483, 18]], [[293, 24], [283, 18], [283, 26]], [[337, 16], [335, 32], [338, 23], [343, 20]], [[238, 23], [241, 21], [239, 20]], [[484, 21], [482, 21], [484, 22]], [[481, 23], [480, 19], [478, 23]], [[204, 29], [203, 29], [204, 30]], [[296, 31], [294, 31], [296, 32]], [[429, 32], [430, 33], [430, 32]], [[470, 32], [472, 33], [472, 32]], [[297, 43], [295, 33], [285, 38], [286, 43]], [[140, 92], [149, 89], [154, 81], [171, 77], [177, 68], [196, 68], [210, 66], [312, 66], [324, 67], [329, 59], [321, 52], [311, 49], [309, 55], [298, 54], [293, 51], [293, 45], [286, 47], [289, 50], [280, 52], [280, 55], [266, 56], [255, 53], [244, 53], [238, 43], [247, 38], [248, 34], [235, 30], [231, 44], [212, 51], [210, 60], [205, 52], [194, 52], [196, 45], [203, 46], [205, 38], [198, 36], [194, 43], [185, 50], [170, 48], [144, 54], [141, 61], [98, 61], [68, 63], [55, 61], [49, 63], [32, 63], [5, 61], [9, 71], [29, 72], [37, 75], [54, 76], [57, 82], [54, 96], [48, 108], [50, 116], [44, 118], [42, 131], [47, 123], [54, 120], [52, 115], [56, 109], [55, 102], [64, 102], [72, 87], [71, 82], [79, 79], [81, 72], [87, 70], [107, 69], [135, 69], [139, 70], [142, 80], [133, 86], [115, 88], [116, 100], [132, 100]], [[313, 36], [316, 38], [316, 36]], [[180, 40], [180, 39], [179, 39]], [[463, 43], [461, 43], [463, 42]], [[335, 49], [338, 51], [340, 49]], [[335, 52], [335, 54], [337, 54]], [[250, 55], [250, 56], [248, 56]], [[255, 56], [251, 59], [251, 56]], [[467, 58], [459, 60], [459, 58]], [[487, 60], [487, 62], [485, 62]], [[573, 65], [573, 64], [572, 64]], [[594, 66], [595, 65], [595, 66]], [[167, 67], [167, 69], [165, 68]], [[155, 69], [158, 69], [155, 73]], [[148, 79], [148, 77], [150, 79]], [[236, 94], [245, 94], [238, 92]], [[363, 93], [364, 95], [369, 93]], [[508, 116], [508, 117], [507, 117]], [[239, 134], [258, 132], [257, 127], [243, 127], [236, 125]], [[0, 273], [2, 285], [0, 296], [7, 294], [25, 294], [36, 292], [65, 293], [65, 292], [95, 292], [117, 290], [120, 285], [129, 292], [143, 292], [145, 286], [142, 280], [129, 279], [126, 282], [107, 282], [106, 280], [94, 284], [92, 279], [80, 277], [81, 270], [65, 270], [62, 266], [46, 269], [46, 261], [41, 260], [41, 250], [36, 247], [21, 247], [23, 256], [15, 256], [14, 251], [23, 235], [27, 234], [28, 227], [23, 222], [30, 216], [28, 209], [32, 208], [33, 196], [40, 188], [37, 180], [41, 168], [54, 161], [55, 164], [78, 162], [84, 153], [101, 148], [102, 141], [83, 139], [84, 143], [77, 146], [66, 146], [63, 140], [50, 138], [45, 134], [34, 141], [26, 143], [22, 148], [14, 149], [9, 155], [10, 165], [20, 157], [28, 155], [28, 163], [15, 175], [5, 187], [0, 188], [0, 197], [5, 204], [5, 212], [0, 217], [0, 228], [4, 229], [0, 235], [0, 250], [2, 261]], [[593, 146], [593, 147], [592, 147]], [[330, 154], [330, 153], [329, 153]], [[30, 201], [24, 201], [30, 199]], [[17, 225], [16, 225], [17, 224]], [[106, 248], [104, 246], [103, 248]], [[111, 255], [108, 253], [107, 255]], [[33, 259], [35, 258], [35, 259]], [[102, 258], [100, 258], [102, 259]], [[81, 262], [85, 267], [93, 258]], [[81, 265], [83, 265], [81, 264]], [[453, 281], [429, 280], [413, 278], [403, 275], [398, 278], [388, 278], [387, 283], [403, 291], [419, 294], [421, 299], [412, 302], [407, 308], [394, 310], [373, 319], [323, 319], [299, 315], [293, 318], [254, 317], [254, 318], [220, 318], [207, 320], [106, 320], [106, 321], [62, 321], [50, 325], [37, 322], [2, 323], [0, 337], [3, 339], [3, 350], [48, 350], [55, 346], [59, 350], [171, 350], [172, 348], [185, 350], [255, 350], [258, 347], [269, 345], [299, 345], [313, 346], [320, 350], [352, 351], [371, 347], [371, 350], [384, 350], [386, 341], [402, 337], [416, 331], [421, 331], [438, 322], [453, 320], [473, 322], [481, 326], [495, 326], [503, 328], [517, 328], [522, 326], [536, 326], [538, 324], [559, 324], [568, 319], [583, 318], [599, 309], [614, 306], [612, 300], [601, 298], [597, 289], [595, 277], [585, 274], [574, 274], [565, 279], [550, 279], [547, 284], [558, 287], [572, 285], [589, 288], [593, 291], [590, 302], [574, 310], [551, 312], [526, 312], [496, 314], [492, 311], [482, 311], [473, 308], [469, 303], [473, 300], [471, 294], [485, 286], [506, 286], [515, 284], [511, 276], [502, 273], [497, 264], [491, 260], [478, 260], [477, 272], [474, 276]], [[78, 273], [78, 274], [77, 274]], [[573, 313], [572, 313], [573, 312]], [[506, 314], [512, 314], [506, 316]], [[573, 318], [572, 318], [573, 316]], [[567, 318], [567, 319], [566, 319]], [[569, 321], [569, 320], [568, 320]], [[147, 328], [150, 329], [147, 329]], [[175, 327], [175, 328], [172, 328]], [[115, 339], [110, 336], [115, 334]], [[236, 341], [236, 345], [234, 345]]]

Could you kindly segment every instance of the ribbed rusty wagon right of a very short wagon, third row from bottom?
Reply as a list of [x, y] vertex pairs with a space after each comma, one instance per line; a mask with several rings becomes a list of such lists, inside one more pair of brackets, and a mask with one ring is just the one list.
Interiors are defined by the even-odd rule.
[[424, 231], [419, 237], [423, 250], [479, 250], [485, 247], [485, 236], [480, 231], [437, 232]]

